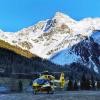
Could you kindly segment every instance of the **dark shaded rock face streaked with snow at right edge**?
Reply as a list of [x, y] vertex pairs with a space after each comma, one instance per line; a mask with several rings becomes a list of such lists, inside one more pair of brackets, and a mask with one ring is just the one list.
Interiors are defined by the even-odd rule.
[[[95, 34], [95, 32], [93, 33]], [[90, 66], [95, 72], [100, 72], [100, 45], [91, 36], [72, 47], [72, 52], [80, 56], [81, 63]], [[97, 70], [94, 68], [97, 67]]]

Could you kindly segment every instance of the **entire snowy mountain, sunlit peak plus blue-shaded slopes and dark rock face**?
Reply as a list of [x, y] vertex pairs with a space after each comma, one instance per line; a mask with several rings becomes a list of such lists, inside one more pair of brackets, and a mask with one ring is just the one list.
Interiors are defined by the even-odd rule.
[[76, 21], [57, 12], [51, 19], [15, 33], [0, 31], [0, 40], [57, 65], [80, 63], [99, 74], [99, 30], [100, 18]]

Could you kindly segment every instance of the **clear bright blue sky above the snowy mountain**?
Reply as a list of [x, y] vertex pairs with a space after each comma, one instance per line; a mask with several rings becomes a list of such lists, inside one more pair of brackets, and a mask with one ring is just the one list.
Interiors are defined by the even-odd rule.
[[18, 31], [57, 11], [76, 20], [100, 17], [100, 0], [0, 0], [0, 29]]

